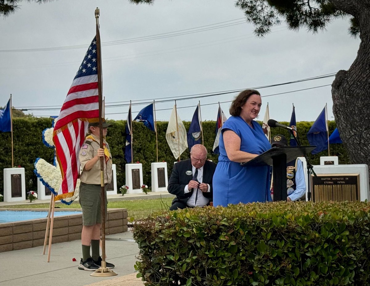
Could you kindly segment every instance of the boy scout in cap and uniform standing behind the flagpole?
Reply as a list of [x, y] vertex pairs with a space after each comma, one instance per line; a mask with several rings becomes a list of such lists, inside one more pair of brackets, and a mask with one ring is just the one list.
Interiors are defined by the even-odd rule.
[[[103, 138], [111, 124], [103, 123]], [[101, 226], [101, 183], [100, 157], [104, 157], [104, 183], [112, 180], [112, 156], [108, 143], [103, 139], [104, 148], [100, 148], [99, 123], [88, 125], [88, 136], [80, 149], [78, 158], [81, 163], [79, 202], [82, 208], [83, 228], [81, 233], [82, 256], [78, 269], [94, 271], [101, 267], [100, 226]], [[105, 193], [105, 214], [107, 214], [107, 193]], [[90, 255], [91, 246], [91, 255]], [[114, 268], [107, 262], [107, 268]]]

